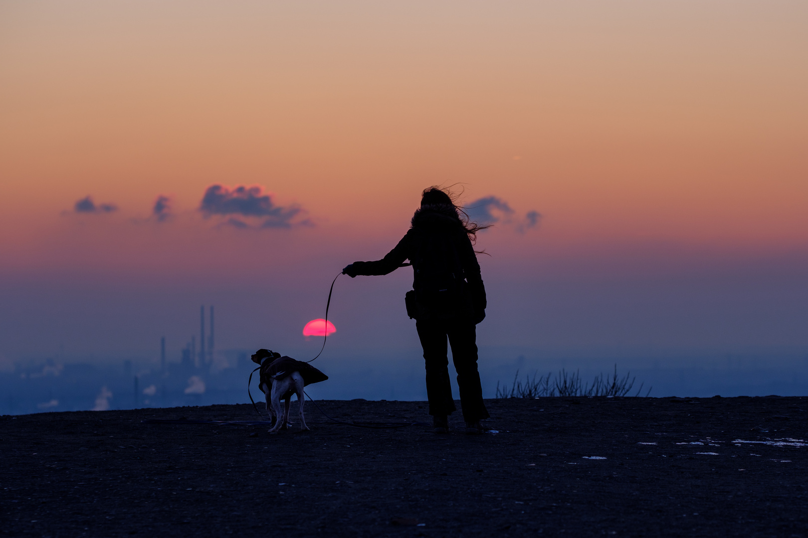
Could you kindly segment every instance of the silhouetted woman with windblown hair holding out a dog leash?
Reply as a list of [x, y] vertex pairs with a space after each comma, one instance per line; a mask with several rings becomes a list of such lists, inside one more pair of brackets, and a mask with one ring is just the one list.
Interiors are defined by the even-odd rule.
[[447, 337], [466, 433], [482, 432], [480, 420], [489, 418], [477, 369], [475, 326], [486, 317], [486, 289], [471, 240], [480, 229], [469, 223], [448, 194], [430, 187], [423, 191], [410, 230], [387, 256], [356, 261], [343, 269], [353, 278], [392, 273], [405, 260], [412, 262], [415, 279], [413, 291], [406, 294], [406, 308], [423, 346], [429, 414], [436, 433], [448, 432], [447, 416], [457, 410], [449, 383]]

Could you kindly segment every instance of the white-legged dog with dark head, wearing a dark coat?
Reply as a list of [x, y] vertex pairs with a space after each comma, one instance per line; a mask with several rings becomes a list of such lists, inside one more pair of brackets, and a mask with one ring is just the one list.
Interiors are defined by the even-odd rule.
[[[326, 381], [328, 376], [312, 365], [296, 361], [292, 357], [281, 357], [280, 353], [272, 352], [269, 349], [259, 349], [251, 358], [255, 364], [261, 367], [259, 389], [267, 401], [267, 411], [275, 421], [269, 432], [277, 433], [281, 428], [285, 430], [288, 427], [292, 394], [297, 395], [297, 402], [300, 404], [301, 431], [308, 430], [309, 427], [306, 426], [303, 415], [303, 404], [305, 403], [303, 387], [311, 383]], [[280, 400], [284, 400], [283, 407], [280, 405]]]

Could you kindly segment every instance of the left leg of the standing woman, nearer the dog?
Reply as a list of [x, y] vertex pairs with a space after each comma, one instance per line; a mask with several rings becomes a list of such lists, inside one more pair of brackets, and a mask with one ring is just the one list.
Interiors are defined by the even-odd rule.
[[452, 384], [449, 382], [446, 329], [442, 323], [419, 321], [415, 323], [423, 347], [423, 359], [427, 367], [427, 398], [429, 414], [446, 416], [457, 411], [452, 399]]

